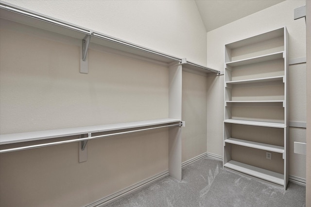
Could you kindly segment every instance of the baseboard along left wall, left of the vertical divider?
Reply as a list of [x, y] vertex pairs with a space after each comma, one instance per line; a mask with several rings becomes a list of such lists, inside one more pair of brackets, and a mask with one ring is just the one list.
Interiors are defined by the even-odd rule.
[[112, 202], [114, 202], [114, 201], [116, 201], [116, 200], [118, 200], [118, 199], [120, 199], [120, 198], [122, 198], [122, 197], [124, 197], [124, 196], [126, 196], [128, 194], [130, 194], [130, 193], [138, 191], [141, 188], [143, 188], [143, 187], [145, 187], [147, 185], [150, 185], [150, 184], [154, 183], [155, 181], [157, 181], [159, 179], [162, 179], [163, 177], [166, 177], [168, 175], [169, 175], [169, 171], [168, 170], [164, 171], [164, 172], [159, 173], [159, 174], [157, 174], [155, 176], [152, 176], [152, 177], [150, 177], [148, 179], [145, 179], [145, 180], [143, 180], [143, 181], [141, 181], [141, 182], [139, 182], [139, 183], [137, 183], [135, 185], [132, 185], [132, 186], [126, 188], [126, 189], [123, 189], [122, 191], [118, 191], [118, 192], [116, 192], [116, 193], [114, 193], [112, 195], [104, 197], [101, 200], [98, 200], [98, 201], [96, 201], [96, 202], [94, 202], [92, 204], [87, 205], [86, 207], [104, 207], [104, 206], [106, 206], [106, 205], [108, 205], [108, 204], [110, 204], [110, 203], [112, 203]]

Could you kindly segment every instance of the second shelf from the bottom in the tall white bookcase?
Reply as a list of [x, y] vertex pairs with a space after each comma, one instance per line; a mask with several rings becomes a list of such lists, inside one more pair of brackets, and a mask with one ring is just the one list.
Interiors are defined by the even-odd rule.
[[225, 143], [238, 144], [241, 146], [247, 146], [247, 147], [262, 149], [262, 150], [271, 151], [271, 152], [284, 153], [283, 146], [277, 146], [277, 145], [272, 145], [272, 144], [257, 143], [257, 142], [235, 139], [235, 138], [226, 139]]

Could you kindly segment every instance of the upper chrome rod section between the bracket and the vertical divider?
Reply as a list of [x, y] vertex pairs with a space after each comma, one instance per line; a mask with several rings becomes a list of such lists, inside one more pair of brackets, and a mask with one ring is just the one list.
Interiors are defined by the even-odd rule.
[[130, 47], [130, 48], [135, 48], [135, 49], [138, 49], [138, 50], [141, 50], [141, 51], [144, 51], [144, 52], [149, 52], [149, 53], [152, 53], [152, 54], [155, 54], [155, 55], [159, 55], [159, 56], [162, 56], [162, 57], [165, 57], [165, 58], [169, 58], [169, 59], [172, 59], [173, 61], [178, 61], [179, 63], [181, 63], [181, 59], [180, 58], [176, 58], [176, 57], [173, 57], [171, 55], [167, 55], [167, 54], [164, 54], [164, 53], [161, 53], [161, 52], [157, 52], [157, 51], [152, 50], [152, 49], [143, 48], [141, 46], [134, 45], [132, 43], [127, 43], [125, 41], [118, 40], [118, 39], [115, 39], [115, 38], [112, 38], [112, 37], [109, 37], [109, 36], [106, 36], [106, 35], [103, 35], [103, 34], [99, 34], [99, 33], [95, 33], [94, 32], [94, 37], [98, 37], [98, 38], [101, 38], [101, 39], [104, 39], [104, 40], [108, 40], [110, 42], [118, 43], [120, 45], [124, 45], [124, 46]]

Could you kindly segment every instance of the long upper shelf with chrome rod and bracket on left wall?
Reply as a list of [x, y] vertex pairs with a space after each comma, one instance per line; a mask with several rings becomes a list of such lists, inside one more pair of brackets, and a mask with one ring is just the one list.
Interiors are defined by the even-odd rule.
[[[202, 72], [203, 70], [204, 74], [220, 74], [220, 71], [218, 70], [214, 70], [199, 64], [193, 64], [189, 61], [183, 62], [182, 58], [178, 58], [159, 51], [155, 51], [150, 48], [145, 48], [130, 42], [126, 42], [124, 40], [117, 39], [100, 32], [95, 32], [59, 19], [52, 18], [50, 16], [45, 16], [35, 13], [33, 11], [25, 10], [15, 5], [11, 5], [7, 2], [0, 1], [0, 11], [0, 17], [3, 19], [81, 39], [83, 42], [82, 59], [84, 62], [86, 61], [86, 53], [89, 43], [95, 43], [128, 54], [158, 61], [164, 64], [184, 64], [184, 66], [188, 68], [188, 72], [197, 73], [198, 71]], [[86, 64], [83, 63], [82, 65], [85, 66]], [[81, 72], [87, 73], [87, 69], [81, 69]]]

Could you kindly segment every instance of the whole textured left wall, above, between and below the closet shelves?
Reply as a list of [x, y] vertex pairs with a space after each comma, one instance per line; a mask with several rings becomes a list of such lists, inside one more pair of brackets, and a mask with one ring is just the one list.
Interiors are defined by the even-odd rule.
[[[7, 2], [206, 64], [207, 33], [193, 1]], [[89, 73], [81, 74], [81, 40], [7, 20], [0, 26], [1, 134], [168, 117], [168, 67], [90, 46]], [[191, 111], [187, 106], [194, 103], [206, 111], [206, 78], [186, 74], [185, 80], [203, 88], [199, 97], [185, 88], [190, 105], [183, 109]], [[183, 136], [192, 143], [183, 146], [185, 159], [206, 152], [206, 121], [200, 124], [198, 137]], [[192, 126], [189, 131], [198, 127]], [[85, 206], [162, 173], [168, 130], [92, 140], [83, 163], [78, 152], [78, 143], [70, 143], [1, 154], [0, 206]]]

